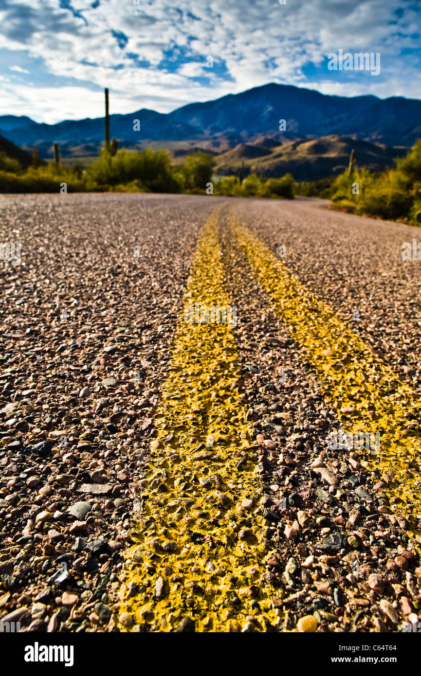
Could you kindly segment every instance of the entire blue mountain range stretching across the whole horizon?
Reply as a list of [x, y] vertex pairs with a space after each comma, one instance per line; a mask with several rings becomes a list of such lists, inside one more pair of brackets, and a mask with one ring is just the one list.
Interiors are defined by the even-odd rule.
[[[139, 129], [133, 128], [134, 120], [139, 120]], [[279, 130], [280, 120], [286, 120], [284, 132]], [[409, 147], [421, 137], [421, 101], [331, 96], [272, 83], [215, 101], [190, 103], [169, 114], [143, 108], [111, 115], [110, 127], [120, 147], [148, 141], [189, 141], [217, 149], [250, 143], [261, 135], [277, 141], [338, 135]], [[38, 124], [30, 118], [0, 116], [0, 134], [22, 147], [37, 145], [40, 155], [51, 157], [53, 141], [70, 148], [86, 144], [99, 148], [104, 140], [104, 119]]]

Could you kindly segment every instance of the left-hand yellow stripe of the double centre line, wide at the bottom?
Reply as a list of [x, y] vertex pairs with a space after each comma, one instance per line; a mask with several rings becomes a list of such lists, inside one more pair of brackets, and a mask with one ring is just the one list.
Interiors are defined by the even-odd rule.
[[[217, 221], [214, 212], [202, 231], [183, 315], [196, 302], [229, 306]], [[192, 622], [196, 631], [244, 630], [248, 622], [267, 631], [279, 621], [275, 590], [261, 579], [269, 524], [233, 332], [180, 318], [172, 349], [119, 614], [133, 617], [137, 631], [180, 631]], [[215, 443], [206, 448], [209, 437]], [[242, 508], [246, 499], [251, 509]]]

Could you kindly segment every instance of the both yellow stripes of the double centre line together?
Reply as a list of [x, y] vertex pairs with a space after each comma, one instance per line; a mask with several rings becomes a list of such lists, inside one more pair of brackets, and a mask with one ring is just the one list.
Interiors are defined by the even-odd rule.
[[[184, 320], [196, 303], [229, 306], [218, 219], [219, 209], [198, 243], [156, 412], [148, 486], [120, 590], [123, 631], [270, 631], [280, 622], [234, 334], [227, 323]], [[234, 218], [231, 227], [317, 369], [325, 399], [336, 402], [343, 429], [382, 431], [380, 454], [366, 462], [385, 475], [385, 493], [399, 498], [401, 514], [420, 513], [421, 439], [405, 418], [420, 408], [416, 396], [257, 237]]]

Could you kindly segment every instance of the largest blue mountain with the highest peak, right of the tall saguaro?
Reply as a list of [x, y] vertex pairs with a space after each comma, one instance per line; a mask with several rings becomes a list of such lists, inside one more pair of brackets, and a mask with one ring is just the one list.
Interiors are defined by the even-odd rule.
[[296, 138], [338, 134], [386, 145], [413, 145], [421, 136], [421, 101], [375, 96], [341, 97], [284, 84], [265, 84], [216, 101], [190, 103], [169, 116], [198, 133], [279, 136], [279, 120]]

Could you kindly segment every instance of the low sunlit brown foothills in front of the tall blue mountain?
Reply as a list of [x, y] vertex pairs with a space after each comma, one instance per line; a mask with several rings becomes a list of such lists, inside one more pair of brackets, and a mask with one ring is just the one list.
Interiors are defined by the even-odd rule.
[[273, 145], [273, 139], [263, 137], [217, 155], [214, 171], [219, 176], [242, 173], [243, 176], [257, 174], [266, 178], [278, 178], [290, 172], [296, 180], [313, 180], [343, 172], [349, 164], [351, 150], [355, 151], [357, 166], [372, 172], [393, 167], [395, 158], [407, 151], [337, 135], [289, 141], [282, 145]]

